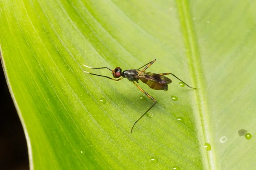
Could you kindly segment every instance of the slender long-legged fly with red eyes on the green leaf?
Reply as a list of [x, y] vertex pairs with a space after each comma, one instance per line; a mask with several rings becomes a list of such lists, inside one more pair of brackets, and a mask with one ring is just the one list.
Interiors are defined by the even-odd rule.
[[[167, 91], [168, 90], [168, 84], [172, 82], [171, 79], [169, 79], [168, 77], [165, 77], [165, 75], [169, 75], [171, 74], [172, 76], [174, 76], [175, 78], [179, 79], [178, 77], [176, 77], [174, 74], [172, 73], [160, 73], [160, 74], [155, 74], [155, 73], [149, 73], [146, 72], [145, 70], [148, 69], [157, 59], [154, 59], [151, 62], [148, 62], [147, 64], [143, 65], [142, 67], [138, 68], [138, 69], [131, 69], [131, 70], [125, 70], [122, 72], [122, 69], [120, 67], [116, 67], [114, 70], [111, 70], [108, 67], [100, 67], [100, 68], [92, 68], [89, 67], [87, 65], [84, 65], [84, 67], [87, 68], [91, 68], [91, 69], [103, 69], [103, 68], [107, 68], [108, 70], [112, 71], [112, 75], [113, 78], [111, 77], [107, 77], [107, 76], [102, 76], [99, 74], [93, 74], [93, 73], [89, 73], [87, 71], [84, 71], [84, 73], [88, 73], [88, 74], [92, 74], [95, 76], [100, 76], [100, 77], [106, 77], [108, 79], [114, 80], [114, 81], [119, 81], [123, 78], [127, 78], [129, 81], [133, 82], [134, 85], [137, 86], [137, 88], [140, 89], [140, 91], [142, 91], [145, 95], [147, 95], [149, 98], [151, 98], [152, 100], [154, 100], [154, 104], [145, 112], [143, 113], [142, 116], [140, 116], [140, 118], [134, 123], [134, 125], [151, 109], [154, 107], [154, 105], [157, 104], [156, 99], [154, 99], [152, 96], [150, 96], [147, 92], [145, 92], [139, 85], [137, 85], [135, 82], [139, 83], [139, 80], [141, 80], [143, 83], [147, 84], [148, 87], [154, 89], [154, 90], [164, 90]], [[144, 68], [145, 67], [145, 68]], [[140, 70], [141, 68], [143, 68], [142, 70]], [[121, 78], [119, 78], [121, 77]], [[117, 79], [119, 78], [119, 79]], [[179, 79], [181, 82], [183, 82], [181, 79]], [[185, 85], [187, 85], [185, 82], [183, 82]], [[187, 85], [189, 88], [189, 85]], [[196, 89], [196, 88], [193, 88]], [[131, 133], [132, 130], [134, 128], [134, 125], [131, 128]]]

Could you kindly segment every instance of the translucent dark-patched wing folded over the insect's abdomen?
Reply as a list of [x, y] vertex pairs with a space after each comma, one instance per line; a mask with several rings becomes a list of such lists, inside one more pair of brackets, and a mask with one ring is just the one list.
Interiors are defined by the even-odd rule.
[[147, 79], [151, 82], [157, 82], [160, 84], [169, 84], [172, 82], [171, 79], [160, 74], [150, 73], [146, 71], [137, 70], [139, 79]]

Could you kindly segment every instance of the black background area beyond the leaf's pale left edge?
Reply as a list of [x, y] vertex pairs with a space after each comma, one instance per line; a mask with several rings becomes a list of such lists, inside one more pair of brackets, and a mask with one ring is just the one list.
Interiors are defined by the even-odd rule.
[[0, 67], [0, 169], [28, 170], [26, 139], [12, 101], [2, 65]]

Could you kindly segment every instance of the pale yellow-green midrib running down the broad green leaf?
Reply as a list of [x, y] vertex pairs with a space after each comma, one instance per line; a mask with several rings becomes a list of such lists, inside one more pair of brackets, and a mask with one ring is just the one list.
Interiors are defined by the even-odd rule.
[[205, 96], [206, 85], [204, 81], [203, 69], [200, 62], [200, 53], [198, 49], [198, 42], [196, 39], [195, 31], [193, 29], [191, 12], [189, 10], [188, 0], [176, 0], [177, 11], [180, 17], [180, 25], [182, 28], [182, 34], [184, 38], [184, 43], [186, 46], [186, 54], [188, 58], [189, 72], [191, 74], [193, 82], [195, 82], [195, 120], [198, 130], [198, 141], [201, 145], [202, 159], [204, 162], [204, 167], [206, 169], [215, 169], [215, 150], [212, 147], [210, 152], [206, 153], [204, 148], [205, 143], [213, 144], [212, 136], [209, 133], [209, 116], [208, 116], [208, 106], [207, 97]]

